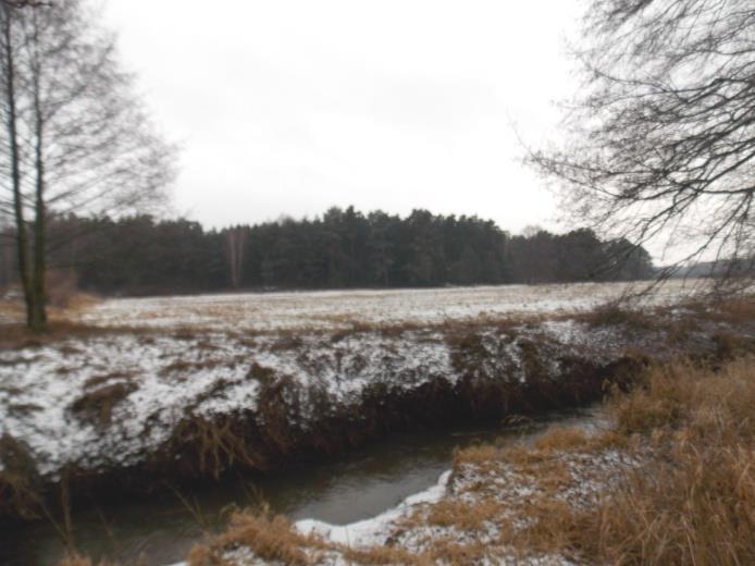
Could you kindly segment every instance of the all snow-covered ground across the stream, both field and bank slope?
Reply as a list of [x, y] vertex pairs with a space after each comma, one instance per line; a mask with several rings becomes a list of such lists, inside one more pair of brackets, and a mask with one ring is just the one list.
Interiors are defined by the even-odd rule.
[[[133, 465], [163, 445], [186, 417], [255, 413], [265, 374], [299, 387], [296, 418], [306, 428], [310, 392], [332, 406], [348, 406], [375, 384], [408, 391], [438, 378], [458, 380], [463, 371], [453, 367], [447, 335], [422, 322], [476, 318], [484, 328], [485, 316], [578, 311], [626, 288], [577, 284], [106, 300], [76, 316], [103, 327], [146, 329], [0, 349], [0, 438], [24, 442], [44, 477], [54, 478], [66, 465], [91, 470]], [[672, 282], [647, 300], [665, 304], [688, 291], [690, 284]], [[386, 334], [368, 327], [337, 335], [355, 322], [419, 328]], [[542, 321], [516, 339], [488, 329], [482, 346], [490, 359], [482, 369], [522, 382], [525, 353], [519, 343], [533, 335], [562, 350], [592, 348], [592, 356], [605, 359], [626, 346], [616, 332], [564, 319]], [[549, 359], [555, 350], [541, 355], [557, 377], [558, 364]], [[4, 466], [0, 455], [0, 471]]]

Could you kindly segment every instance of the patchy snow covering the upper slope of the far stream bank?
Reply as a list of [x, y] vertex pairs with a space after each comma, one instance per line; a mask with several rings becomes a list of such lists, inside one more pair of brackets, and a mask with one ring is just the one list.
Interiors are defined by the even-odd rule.
[[[599, 340], [606, 359], [621, 347], [611, 331], [587, 331], [570, 320], [522, 328], [513, 340], [481, 331], [483, 347], [495, 357], [486, 362], [490, 372], [512, 382], [525, 379], [519, 344], [528, 337], [565, 350]], [[216, 331], [72, 337], [0, 350], [0, 436], [23, 441], [42, 476], [55, 477], [65, 465], [112, 469], [148, 458], [187, 417], [255, 414], [265, 381], [289, 384], [296, 395], [289, 418], [306, 430], [314, 419], [310, 393], [335, 408], [358, 405], [368, 387], [380, 384], [394, 392], [437, 379], [453, 384], [462, 372], [451, 355], [446, 336], [431, 329], [335, 339]], [[548, 362], [557, 377], [558, 364]]]

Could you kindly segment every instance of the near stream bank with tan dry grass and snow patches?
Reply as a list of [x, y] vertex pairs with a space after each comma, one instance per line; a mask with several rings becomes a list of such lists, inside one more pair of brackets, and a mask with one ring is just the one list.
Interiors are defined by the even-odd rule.
[[752, 564], [755, 357], [653, 364], [593, 430], [457, 453], [370, 520], [239, 512], [189, 566]]

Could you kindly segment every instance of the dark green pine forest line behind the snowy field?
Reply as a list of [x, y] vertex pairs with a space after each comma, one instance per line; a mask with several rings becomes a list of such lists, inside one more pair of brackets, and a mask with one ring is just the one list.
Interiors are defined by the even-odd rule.
[[108, 295], [261, 288], [422, 287], [645, 279], [647, 251], [593, 231], [528, 229], [414, 210], [331, 208], [312, 219], [206, 230], [151, 216], [50, 223], [50, 264]]

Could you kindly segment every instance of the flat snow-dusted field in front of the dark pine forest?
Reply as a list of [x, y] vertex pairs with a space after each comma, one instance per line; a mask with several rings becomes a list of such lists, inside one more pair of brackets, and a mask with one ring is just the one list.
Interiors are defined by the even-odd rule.
[[[671, 281], [644, 300], [653, 305], [672, 303], [698, 288], [698, 283]], [[74, 318], [104, 327], [338, 329], [355, 323], [422, 324], [502, 315], [575, 312], [616, 299], [632, 287], [627, 283], [573, 283], [123, 298], [91, 305]]]

